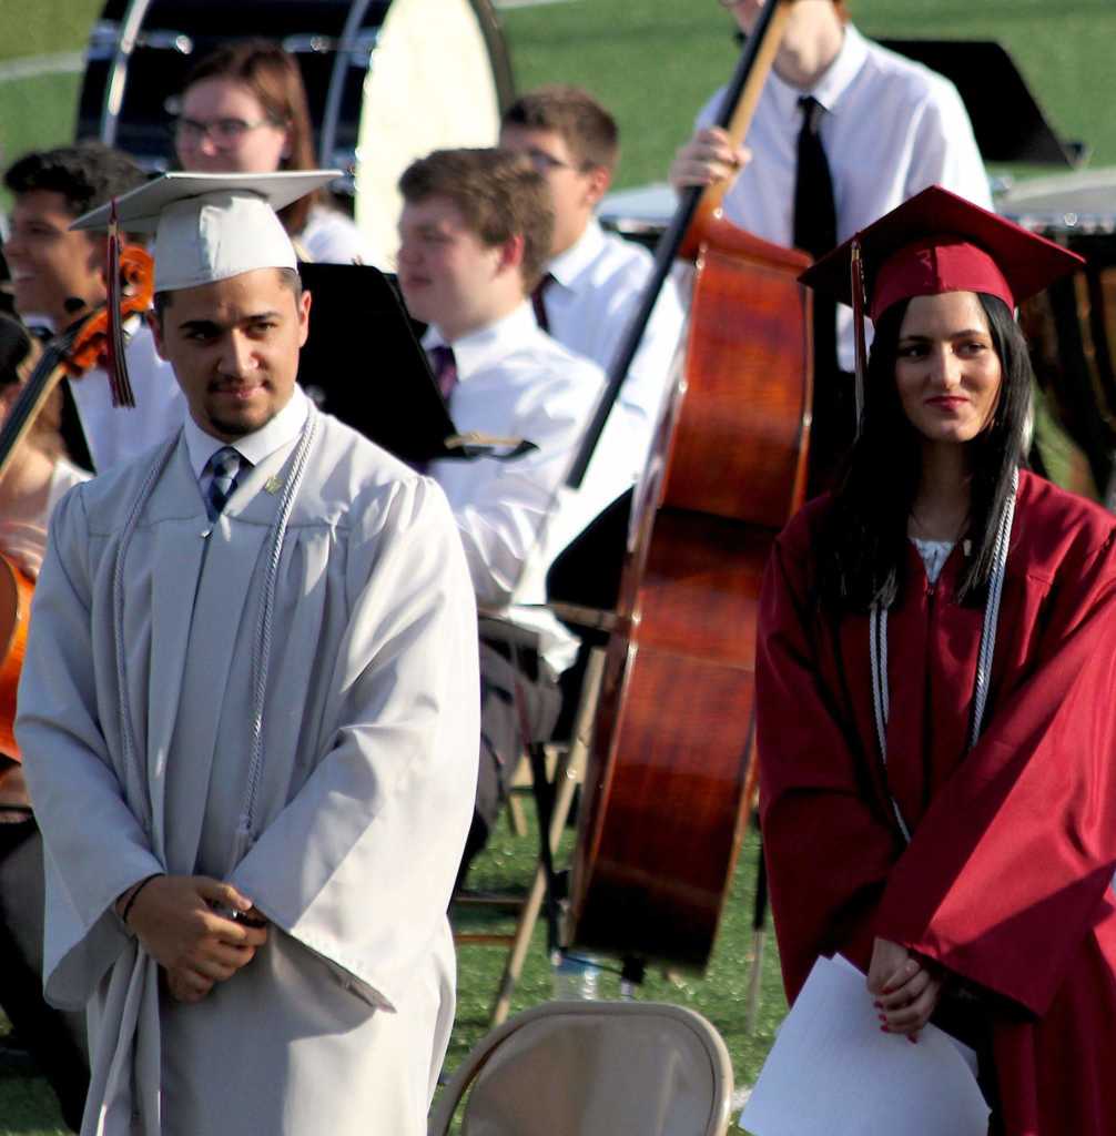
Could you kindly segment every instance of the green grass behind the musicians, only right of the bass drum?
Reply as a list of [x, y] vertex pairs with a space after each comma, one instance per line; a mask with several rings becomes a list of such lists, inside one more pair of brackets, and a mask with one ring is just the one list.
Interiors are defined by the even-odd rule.
[[[1110, 0], [853, 0], [852, 9], [871, 35], [999, 40], [1058, 132], [1089, 142], [1093, 166], [1116, 162]], [[592, 0], [516, 9], [502, 24], [520, 87], [582, 83], [614, 110], [619, 186], [664, 178], [735, 59], [730, 20], [713, 0]]]

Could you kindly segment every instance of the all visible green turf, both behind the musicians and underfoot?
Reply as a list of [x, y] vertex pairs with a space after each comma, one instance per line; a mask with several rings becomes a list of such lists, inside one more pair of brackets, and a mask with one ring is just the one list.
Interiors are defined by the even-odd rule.
[[[26, 57], [80, 50], [101, 0], [0, 0], [0, 66]], [[1116, 78], [1111, 0], [853, 0], [861, 30], [880, 36], [998, 39], [1016, 58], [1059, 133], [1083, 140], [1092, 166], [1116, 164]], [[219, 5], [214, 5], [215, 15]], [[735, 44], [714, 0], [569, 0], [502, 14], [520, 89], [543, 82], [578, 83], [613, 108], [623, 132], [617, 185], [661, 179], [688, 135], [697, 108], [727, 77]], [[264, 30], [261, 30], [264, 31]], [[0, 164], [31, 148], [72, 137], [80, 76], [56, 72], [0, 82]], [[1114, 202], [1116, 207], [1116, 202]], [[523, 885], [534, 837], [501, 829], [477, 866], [478, 886]], [[743, 1000], [751, 946], [750, 843], [732, 889], [714, 962], [703, 980], [678, 985], [652, 975], [641, 996], [691, 1005], [725, 1036], [740, 1083], [750, 1081], [766, 1053], [784, 1003], [774, 950], [766, 957], [764, 1002], [753, 1036], [746, 1035]], [[455, 1066], [486, 1028], [500, 971], [499, 952], [463, 947], [460, 1004], [450, 1051]], [[615, 993], [607, 979], [605, 993]], [[545, 999], [549, 967], [540, 928], [515, 1008]], [[0, 1079], [0, 1136], [61, 1131], [40, 1080]]]

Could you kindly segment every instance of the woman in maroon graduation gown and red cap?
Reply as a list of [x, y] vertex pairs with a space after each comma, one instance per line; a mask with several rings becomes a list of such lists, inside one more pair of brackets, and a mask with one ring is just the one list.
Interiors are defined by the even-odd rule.
[[[803, 278], [849, 302], [852, 243]], [[994, 1131], [1116, 1133], [1116, 519], [1019, 468], [1011, 315], [1076, 258], [936, 187], [856, 243], [861, 432], [759, 627], [788, 995], [842, 953], [975, 1045]]]

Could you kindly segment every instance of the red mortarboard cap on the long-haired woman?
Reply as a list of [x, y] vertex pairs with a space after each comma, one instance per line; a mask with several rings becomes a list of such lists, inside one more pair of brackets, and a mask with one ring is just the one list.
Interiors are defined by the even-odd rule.
[[932, 185], [823, 257], [803, 284], [852, 306], [852, 250], [859, 245], [867, 315], [893, 303], [942, 292], [986, 292], [1009, 308], [1084, 264], [956, 193]]

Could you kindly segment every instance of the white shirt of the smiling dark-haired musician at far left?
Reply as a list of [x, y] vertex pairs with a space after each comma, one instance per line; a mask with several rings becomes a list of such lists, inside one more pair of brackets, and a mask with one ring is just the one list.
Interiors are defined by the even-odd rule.
[[131, 332], [124, 358], [135, 392], [134, 407], [113, 406], [108, 374], [101, 367], [81, 378], [67, 379], [98, 474], [138, 457], [189, 417], [174, 369], [159, 358], [148, 325], [134, 317], [125, 324], [125, 331]]

